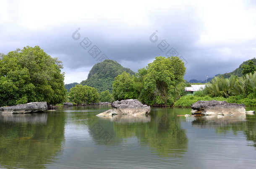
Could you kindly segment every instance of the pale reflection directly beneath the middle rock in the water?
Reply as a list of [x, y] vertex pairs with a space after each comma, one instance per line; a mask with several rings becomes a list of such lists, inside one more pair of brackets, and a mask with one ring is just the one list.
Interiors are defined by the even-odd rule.
[[150, 116], [106, 116], [104, 119], [115, 121], [116, 123], [149, 123], [151, 121]]

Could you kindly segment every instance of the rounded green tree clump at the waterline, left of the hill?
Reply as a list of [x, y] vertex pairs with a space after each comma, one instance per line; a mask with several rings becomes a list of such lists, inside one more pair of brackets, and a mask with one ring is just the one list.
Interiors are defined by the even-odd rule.
[[99, 103], [99, 93], [96, 88], [89, 86], [76, 85], [68, 93], [69, 101], [76, 104], [81, 103]]

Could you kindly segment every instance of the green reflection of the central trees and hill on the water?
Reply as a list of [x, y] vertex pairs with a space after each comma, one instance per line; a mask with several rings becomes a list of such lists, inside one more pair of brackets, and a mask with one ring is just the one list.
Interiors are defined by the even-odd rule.
[[186, 131], [170, 109], [154, 109], [150, 116], [94, 117], [88, 121], [89, 133], [98, 144], [117, 145], [136, 137], [159, 156], [182, 157], [188, 149]]

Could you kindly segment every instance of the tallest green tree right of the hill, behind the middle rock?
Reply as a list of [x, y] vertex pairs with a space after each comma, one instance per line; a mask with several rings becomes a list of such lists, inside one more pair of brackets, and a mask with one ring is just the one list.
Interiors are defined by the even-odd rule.
[[185, 66], [182, 60], [175, 57], [156, 57], [149, 63], [144, 76], [144, 89], [140, 100], [146, 104], [171, 105], [174, 101], [176, 86], [183, 82]]

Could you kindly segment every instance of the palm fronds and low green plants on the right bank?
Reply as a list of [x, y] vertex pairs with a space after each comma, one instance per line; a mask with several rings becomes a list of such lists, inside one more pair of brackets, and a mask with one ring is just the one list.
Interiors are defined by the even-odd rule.
[[217, 100], [229, 103], [244, 103], [246, 106], [256, 106], [256, 71], [243, 77], [214, 77], [211, 83], [202, 91], [193, 95], [183, 96], [175, 102], [175, 107], [190, 107], [196, 101]]

